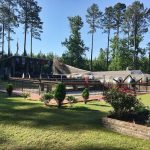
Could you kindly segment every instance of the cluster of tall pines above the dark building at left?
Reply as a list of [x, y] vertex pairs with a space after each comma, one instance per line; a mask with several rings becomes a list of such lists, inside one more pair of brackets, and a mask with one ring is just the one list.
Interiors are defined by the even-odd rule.
[[[42, 8], [36, 0], [0, 0], [0, 40], [1, 40], [1, 55], [5, 54], [4, 48], [7, 44], [7, 56], [11, 56], [11, 41], [15, 29], [23, 25], [24, 29], [24, 52], [27, 55], [26, 41], [27, 33], [30, 33], [30, 56], [32, 57], [33, 38], [40, 40], [42, 33], [41, 18], [39, 16]], [[19, 46], [17, 43], [18, 55]]]

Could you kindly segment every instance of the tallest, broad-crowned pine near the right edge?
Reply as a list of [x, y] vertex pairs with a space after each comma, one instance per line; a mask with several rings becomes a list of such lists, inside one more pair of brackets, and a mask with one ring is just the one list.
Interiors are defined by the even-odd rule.
[[149, 10], [144, 8], [144, 4], [135, 1], [128, 6], [127, 10], [131, 15], [131, 47], [133, 48], [134, 68], [138, 69], [138, 55], [142, 53], [140, 43], [143, 40], [144, 33], [148, 32]]

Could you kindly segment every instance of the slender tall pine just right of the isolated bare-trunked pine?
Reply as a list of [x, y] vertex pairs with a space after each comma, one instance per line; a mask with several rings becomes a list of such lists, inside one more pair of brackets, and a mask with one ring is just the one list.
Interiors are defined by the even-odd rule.
[[109, 46], [110, 46], [110, 31], [113, 28], [114, 25], [114, 11], [113, 7], [106, 7], [105, 13], [103, 15], [102, 19], [102, 29], [104, 30], [104, 33], [107, 33], [107, 70], [109, 65]]

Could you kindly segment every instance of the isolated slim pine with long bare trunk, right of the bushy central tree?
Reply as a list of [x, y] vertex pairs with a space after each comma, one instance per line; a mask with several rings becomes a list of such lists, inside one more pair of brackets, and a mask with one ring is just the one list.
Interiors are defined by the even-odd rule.
[[91, 45], [91, 63], [90, 63], [90, 70], [93, 70], [93, 47], [94, 47], [94, 33], [96, 32], [97, 28], [100, 28], [100, 20], [102, 17], [102, 12], [99, 10], [97, 4], [93, 4], [91, 7], [87, 9], [86, 21], [90, 26], [89, 33], [92, 34], [92, 45]]

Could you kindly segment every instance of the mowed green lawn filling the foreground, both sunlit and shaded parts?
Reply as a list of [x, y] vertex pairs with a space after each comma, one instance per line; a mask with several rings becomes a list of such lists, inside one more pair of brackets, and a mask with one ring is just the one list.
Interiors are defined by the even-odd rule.
[[78, 103], [62, 109], [0, 94], [0, 149], [149, 150], [150, 141], [102, 127], [111, 107], [104, 102]]

